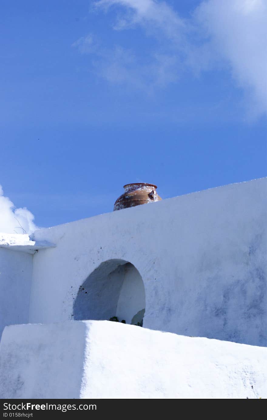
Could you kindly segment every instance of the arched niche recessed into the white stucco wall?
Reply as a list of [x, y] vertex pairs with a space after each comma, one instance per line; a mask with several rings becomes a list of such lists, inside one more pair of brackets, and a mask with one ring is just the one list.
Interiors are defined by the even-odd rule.
[[134, 325], [142, 325], [144, 313], [142, 277], [124, 260], [102, 262], [80, 286], [73, 307], [75, 320], [109, 320], [116, 316]]

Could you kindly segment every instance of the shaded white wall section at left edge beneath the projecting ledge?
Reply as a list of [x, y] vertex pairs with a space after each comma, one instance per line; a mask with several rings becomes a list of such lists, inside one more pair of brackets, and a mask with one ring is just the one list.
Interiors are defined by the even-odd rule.
[[0, 248], [0, 338], [6, 325], [29, 321], [32, 257]]

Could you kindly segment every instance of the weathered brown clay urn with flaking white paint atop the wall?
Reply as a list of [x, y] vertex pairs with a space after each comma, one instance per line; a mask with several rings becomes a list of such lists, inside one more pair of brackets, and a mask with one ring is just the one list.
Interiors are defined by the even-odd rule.
[[124, 194], [116, 200], [114, 211], [161, 200], [156, 192], [157, 186], [153, 184], [138, 182], [136, 184], [126, 184], [123, 188], [125, 190]]

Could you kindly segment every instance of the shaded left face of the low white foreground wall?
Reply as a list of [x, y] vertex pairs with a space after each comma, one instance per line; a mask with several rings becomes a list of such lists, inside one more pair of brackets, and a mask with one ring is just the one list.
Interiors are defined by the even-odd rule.
[[11, 325], [0, 342], [0, 398], [79, 398], [86, 325]]

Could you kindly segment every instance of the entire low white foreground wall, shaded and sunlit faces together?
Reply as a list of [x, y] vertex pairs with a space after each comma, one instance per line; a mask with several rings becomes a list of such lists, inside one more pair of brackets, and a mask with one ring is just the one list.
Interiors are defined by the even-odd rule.
[[266, 347], [109, 321], [7, 327], [0, 362], [1, 398], [267, 398]]

